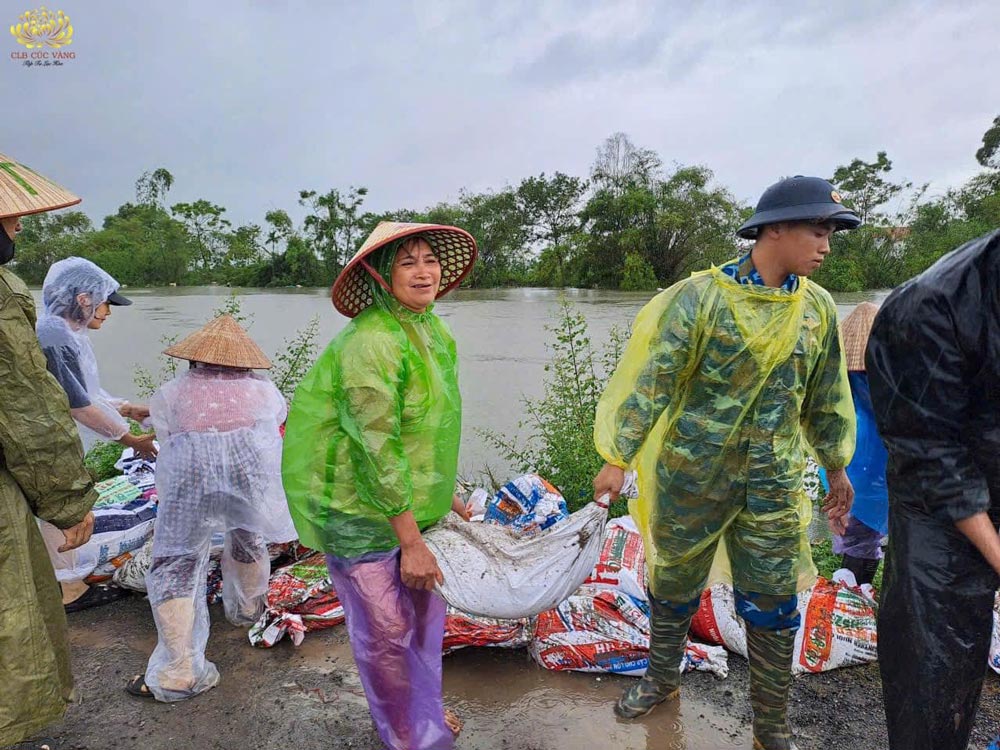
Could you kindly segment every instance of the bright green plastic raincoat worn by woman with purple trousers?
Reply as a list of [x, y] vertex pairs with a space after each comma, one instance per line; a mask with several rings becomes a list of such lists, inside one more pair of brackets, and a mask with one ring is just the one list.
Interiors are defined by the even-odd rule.
[[299, 540], [338, 557], [399, 545], [389, 518], [421, 529], [451, 509], [462, 402], [455, 341], [373, 284], [375, 303], [320, 355], [288, 415], [282, 478]]

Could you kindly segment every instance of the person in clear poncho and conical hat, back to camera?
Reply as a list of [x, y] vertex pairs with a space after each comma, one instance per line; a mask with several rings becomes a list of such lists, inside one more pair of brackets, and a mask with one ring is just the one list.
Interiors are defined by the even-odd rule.
[[160, 454], [146, 586], [158, 641], [145, 675], [126, 689], [169, 702], [219, 681], [218, 669], [205, 658], [213, 534], [224, 535], [226, 619], [247, 627], [266, 605], [267, 543], [291, 541], [295, 530], [281, 487], [280, 426], [287, 406], [274, 384], [253, 372], [271, 366], [267, 357], [228, 315], [166, 354], [192, 365], [149, 402]]

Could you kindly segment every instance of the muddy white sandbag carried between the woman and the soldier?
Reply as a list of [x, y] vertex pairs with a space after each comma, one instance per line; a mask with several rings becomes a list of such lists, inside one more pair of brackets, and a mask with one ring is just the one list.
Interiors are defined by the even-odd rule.
[[444, 575], [437, 592], [455, 609], [481, 617], [516, 619], [552, 609], [597, 562], [608, 518], [602, 501], [530, 537], [447, 515], [424, 533]]

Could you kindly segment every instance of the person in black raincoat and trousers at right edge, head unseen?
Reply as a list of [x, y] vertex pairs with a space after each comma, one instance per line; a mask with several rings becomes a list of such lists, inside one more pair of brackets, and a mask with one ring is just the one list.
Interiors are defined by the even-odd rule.
[[894, 291], [866, 365], [889, 452], [889, 747], [964, 750], [1000, 585], [1000, 231]]

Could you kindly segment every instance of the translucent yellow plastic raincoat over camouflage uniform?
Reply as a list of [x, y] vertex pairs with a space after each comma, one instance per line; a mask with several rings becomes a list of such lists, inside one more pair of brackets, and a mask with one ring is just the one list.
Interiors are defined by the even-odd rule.
[[639, 313], [594, 437], [606, 461], [638, 471], [630, 512], [653, 595], [687, 602], [730, 571], [744, 592], [813, 583], [806, 454], [843, 468], [854, 431], [830, 295], [807, 279], [794, 292], [744, 286], [713, 268]]

